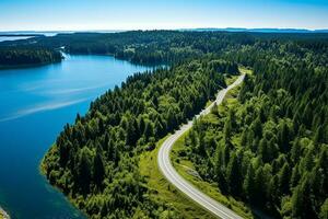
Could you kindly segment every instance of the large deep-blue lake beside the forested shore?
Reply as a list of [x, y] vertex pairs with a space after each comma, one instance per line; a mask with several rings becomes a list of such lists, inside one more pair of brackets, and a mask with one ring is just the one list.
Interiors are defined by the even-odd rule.
[[38, 171], [66, 123], [128, 76], [149, 68], [106, 56], [0, 70], [0, 206], [12, 218], [83, 218]]

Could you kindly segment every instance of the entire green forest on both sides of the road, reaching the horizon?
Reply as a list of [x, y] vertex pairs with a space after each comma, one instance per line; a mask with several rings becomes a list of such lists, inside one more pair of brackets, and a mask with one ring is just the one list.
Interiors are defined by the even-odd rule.
[[142, 152], [192, 118], [238, 67], [233, 104], [196, 120], [186, 153], [225, 195], [276, 218], [327, 218], [328, 35], [133, 31], [58, 34], [3, 47], [102, 54], [143, 65], [66, 125], [42, 163], [91, 218], [161, 218], [138, 169]]

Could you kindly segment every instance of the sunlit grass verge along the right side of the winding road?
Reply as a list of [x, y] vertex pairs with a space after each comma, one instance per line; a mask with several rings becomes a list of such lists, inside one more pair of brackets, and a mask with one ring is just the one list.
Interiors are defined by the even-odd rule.
[[[239, 69], [243, 73], [251, 73], [250, 70], [247, 69]], [[226, 83], [231, 84], [236, 80], [236, 78], [227, 78]], [[232, 89], [225, 96], [223, 101], [223, 105], [234, 104], [236, 102], [236, 96], [238, 95], [241, 85]], [[223, 107], [223, 106], [219, 106]], [[208, 115], [209, 119], [211, 119], [211, 115]], [[181, 154], [185, 154], [185, 135], [183, 135], [174, 145], [173, 150], [171, 152], [171, 160], [173, 162], [174, 168], [176, 171], [204, 194], [209, 195], [213, 199], [218, 200], [219, 203], [225, 205], [226, 207], [231, 208], [235, 212], [237, 212], [243, 218], [253, 218], [251, 210], [242, 201], [237, 201], [232, 196], [224, 196], [221, 194], [220, 188], [214, 183], [209, 183], [203, 181], [195, 171], [195, 166], [191, 161]]]

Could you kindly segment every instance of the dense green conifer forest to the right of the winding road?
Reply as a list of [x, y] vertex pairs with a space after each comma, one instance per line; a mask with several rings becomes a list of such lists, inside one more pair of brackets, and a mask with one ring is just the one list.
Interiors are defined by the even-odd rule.
[[222, 193], [277, 218], [327, 218], [327, 68], [272, 60], [254, 71], [236, 104], [196, 122], [188, 157]]

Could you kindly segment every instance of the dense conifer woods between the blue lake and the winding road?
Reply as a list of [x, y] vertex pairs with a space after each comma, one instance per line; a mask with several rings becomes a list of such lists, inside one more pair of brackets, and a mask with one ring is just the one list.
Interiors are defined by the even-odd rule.
[[65, 127], [43, 161], [47, 178], [91, 218], [160, 217], [138, 154], [213, 99], [223, 73], [238, 73], [237, 65], [201, 59], [129, 77]]

